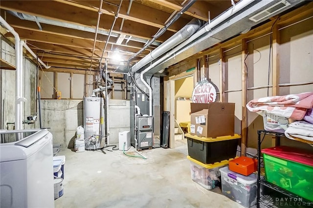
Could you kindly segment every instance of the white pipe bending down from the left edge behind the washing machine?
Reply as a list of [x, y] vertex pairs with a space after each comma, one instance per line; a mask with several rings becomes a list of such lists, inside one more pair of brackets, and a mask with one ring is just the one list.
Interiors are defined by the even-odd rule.
[[[15, 79], [16, 79], [16, 85], [15, 85], [15, 129], [20, 130], [20, 102], [19, 96], [20, 96], [20, 36], [19, 34], [11, 27], [1, 16], [0, 16], [0, 22], [3, 24], [4, 27], [8, 29], [9, 32], [11, 32], [15, 38], [15, 66], [16, 66], [16, 71], [15, 71]], [[18, 139], [20, 138], [20, 135], [18, 134]]]

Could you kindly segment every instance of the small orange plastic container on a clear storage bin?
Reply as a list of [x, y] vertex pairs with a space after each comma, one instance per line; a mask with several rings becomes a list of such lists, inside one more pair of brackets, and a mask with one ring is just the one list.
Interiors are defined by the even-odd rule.
[[229, 161], [228, 164], [229, 170], [244, 176], [248, 176], [258, 169], [258, 160], [244, 156]]

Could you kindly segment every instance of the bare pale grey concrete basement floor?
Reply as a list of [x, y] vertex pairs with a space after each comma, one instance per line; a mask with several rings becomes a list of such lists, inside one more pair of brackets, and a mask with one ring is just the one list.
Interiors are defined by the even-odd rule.
[[[176, 146], [141, 151], [147, 160], [119, 150], [61, 151], [64, 195], [55, 208], [243, 208], [215, 193], [219, 188], [206, 190], [193, 182], [185, 139]], [[134, 147], [127, 153], [137, 155]]]

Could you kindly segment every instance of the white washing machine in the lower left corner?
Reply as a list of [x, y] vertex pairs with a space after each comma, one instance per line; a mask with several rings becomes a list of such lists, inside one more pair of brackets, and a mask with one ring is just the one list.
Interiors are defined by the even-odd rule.
[[46, 129], [0, 130], [0, 207], [54, 208], [52, 134]]

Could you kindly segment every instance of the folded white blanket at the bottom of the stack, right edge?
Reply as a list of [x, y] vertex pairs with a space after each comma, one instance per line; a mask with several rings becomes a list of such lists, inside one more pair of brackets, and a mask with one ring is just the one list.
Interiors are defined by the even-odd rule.
[[296, 137], [313, 141], [313, 124], [305, 121], [295, 121], [285, 130], [285, 136], [289, 139]]

